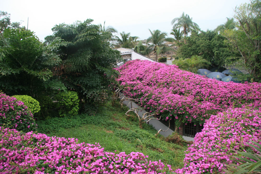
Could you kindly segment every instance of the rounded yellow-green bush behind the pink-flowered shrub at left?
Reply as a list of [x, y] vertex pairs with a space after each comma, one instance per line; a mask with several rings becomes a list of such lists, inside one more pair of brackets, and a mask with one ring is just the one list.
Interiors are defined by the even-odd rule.
[[15, 97], [18, 101], [22, 101], [33, 115], [40, 111], [39, 102], [33, 97], [30, 97], [28, 95], [14, 95], [13, 97]]

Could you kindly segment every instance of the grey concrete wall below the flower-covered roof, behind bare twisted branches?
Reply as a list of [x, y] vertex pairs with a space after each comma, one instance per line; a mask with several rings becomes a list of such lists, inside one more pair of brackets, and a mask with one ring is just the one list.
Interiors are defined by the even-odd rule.
[[[120, 92], [120, 95], [122, 95], [122, 98], [123, 98], [123, 97], [126, 97], [126, 96], [124, 96], [121, 92]], [[121, 99], [122, 99], [122, 98], [121, 98]], [[138, 108], [138, 107], [139, 107], [136, 103], [134, 103], [134, 102], [129, 102], [129, 101], [123, 101], [123, 104], [127, 105], [127, 107], [130, 108], [130, 109], [131, 109], [131, 108]], [[146, 113], [145, 110], [139, 111], [139, 112], [138, 112], [138, 115], [139, 115], [140, 117], [142, 117], [144, 113]], [[153, 117], [153, 118], [154, 118], [154, 117]], [[167, 129], [168, 129], [167, 126], [165, 126], [162, 122], [160, 122], [160, 121], [157, 120], [157, 119], [150, 120], [150, 121], [148, 122], [148, 124], [152, 125], [156, 130], [159, 130], [159, 129], [167, 130]], [[174, 132], [174, 131], [171, 130], [171, 129], [168, 129], [166, 132], [162, 132], [162, 131], [159, 132], [159, 134], [163, 135], [164, 137], [167, 137], [168, 135], [171, 135], [172, 132]], [[179, 131], [179, 132], [180, 132], [180, 131]], [[181, 132], [180, 132], [180, 133], [181, 133]], [[185, 140], [187, 140], [187, 141], [194, 141], [194, 138], [192, 138], [192, 137], [189, 137], [189, 136], [182, 136], [182, 137], [183, 137]]]

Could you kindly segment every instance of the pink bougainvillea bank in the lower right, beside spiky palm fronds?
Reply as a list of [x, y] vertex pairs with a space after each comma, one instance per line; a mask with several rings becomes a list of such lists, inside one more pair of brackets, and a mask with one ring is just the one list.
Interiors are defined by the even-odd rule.
[[245, 151], [246, 142], [261, 139], [261, 110], [228, 109], [206, 120], [187, 149], [184, 168], [177, 173], [221, 173], [235, 151]]

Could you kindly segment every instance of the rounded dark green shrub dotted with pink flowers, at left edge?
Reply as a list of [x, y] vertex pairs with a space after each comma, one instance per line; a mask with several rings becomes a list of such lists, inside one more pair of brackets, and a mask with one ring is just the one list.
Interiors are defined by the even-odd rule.
[[24, 132], [36, 130], [37, 124], [27, 106], [14, 97], [0, 92], [0, 126]]

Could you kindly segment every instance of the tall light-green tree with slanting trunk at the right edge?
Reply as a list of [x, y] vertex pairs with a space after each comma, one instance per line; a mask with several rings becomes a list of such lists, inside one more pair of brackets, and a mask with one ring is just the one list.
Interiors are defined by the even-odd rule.
[[245, 67], [255, 81], [261, 82], [261, 1], [252, 0], [235, 8], [238, 29], [224, 31], [228, 45], [239, 52], [238, 65]]

